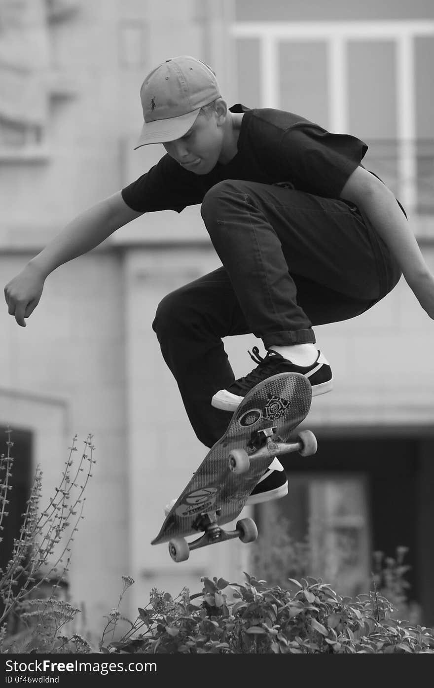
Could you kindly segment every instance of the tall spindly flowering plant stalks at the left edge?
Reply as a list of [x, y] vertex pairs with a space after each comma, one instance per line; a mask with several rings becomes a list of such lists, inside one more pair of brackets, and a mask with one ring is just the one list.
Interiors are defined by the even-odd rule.
[[[11, 433], [10, 429], [6, 431], [8, 451], [0, 455], [0, 543], [12, 490]], [[36, 466], [19, 537], [14, 538], [6, 567], [0, 568], [0, 652], [5, 647], [13, 647], [14, 652], [20, 651], [18, 647], [21, 652], [31, 652], [35, 647], [42, 652], [56, 652], [58, 632], [80, 612], [57, 597], [65, 585], [71, 545], [83, 519], [84, 492], [95, 463], [91, 438], [87, 436], [85, 449], [74, 462], [78, 451], [74, 436], [59, 485], [45, 508], [41, 508], [43, 473]], [[51, 592], [48, 599], [35, 599], [36, 593], [44, 596], [47, 588]], [[80, 636], [76, 641], [77, 647], [86, 643]]]

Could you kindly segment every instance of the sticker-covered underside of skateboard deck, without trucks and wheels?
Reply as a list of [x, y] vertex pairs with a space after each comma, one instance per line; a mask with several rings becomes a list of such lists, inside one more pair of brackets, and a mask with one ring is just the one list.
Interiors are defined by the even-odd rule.
[[230, 469], [232, 450], [245, 449], [253, 455], [265, 443], [260, 431], [272, 428], [272, 439], [285, 442], [307, 416], [312, 401], [312, 387], [303, 375], [275, 375], [252, 389], [233, 414], [224, 436], [208, 451], [190, 482], [166, 516], [160, 533], [151, 541], [159, 544], [173, 537], [200, 532], [200, 518], [217, 513], [217, 524], [226, 524], [241, 512], [246, 499], [274, 458], [261, 452], [243, 473]]

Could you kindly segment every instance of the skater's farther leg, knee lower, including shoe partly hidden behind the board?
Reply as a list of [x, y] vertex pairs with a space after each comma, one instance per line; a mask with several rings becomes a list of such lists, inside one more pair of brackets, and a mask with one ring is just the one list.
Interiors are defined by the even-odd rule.
[[[338, 319], [346, 319], [369, 308], [369, 302], [343, 297], [298, 276], [295, 281], [314, 324], [331, 318], [332, 306], [335, 320], [336, 313]], [[214, 408], [210, 399], [221, 384], [230, 386], [235, 381], [221, 337], [249, 332], [226, 270], [219, 268], [168, 294], [158, 306], [153, 328], [193, 429], [199, 440], [212, 447], [226, 431], [232, 411]], [[283, 466], [274, 459], [247, 503], [279, 499], [287, 489]], [[166, 506], [166, 514], [172, 504]]]

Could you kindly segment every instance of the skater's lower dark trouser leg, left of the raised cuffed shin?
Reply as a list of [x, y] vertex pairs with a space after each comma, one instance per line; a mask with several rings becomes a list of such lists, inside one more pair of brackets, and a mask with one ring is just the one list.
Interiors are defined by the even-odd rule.
[[213, 408], [211, 398], [222, 384], [235, 380], [221, 338], [249, 332], [226, 270], [214, 270], [167, 294], [158, 305], [153, 330], [197, 438], [212, 447], [232, 413]]

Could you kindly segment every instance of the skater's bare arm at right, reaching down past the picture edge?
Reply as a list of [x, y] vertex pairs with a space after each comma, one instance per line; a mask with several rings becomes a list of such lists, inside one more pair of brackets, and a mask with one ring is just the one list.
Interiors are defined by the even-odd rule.
[[379, 179], [358, 167], [340, 197], [358, 206], [388, 246], [415, 297], [434, 319], [434, 277], [395, 196]]

